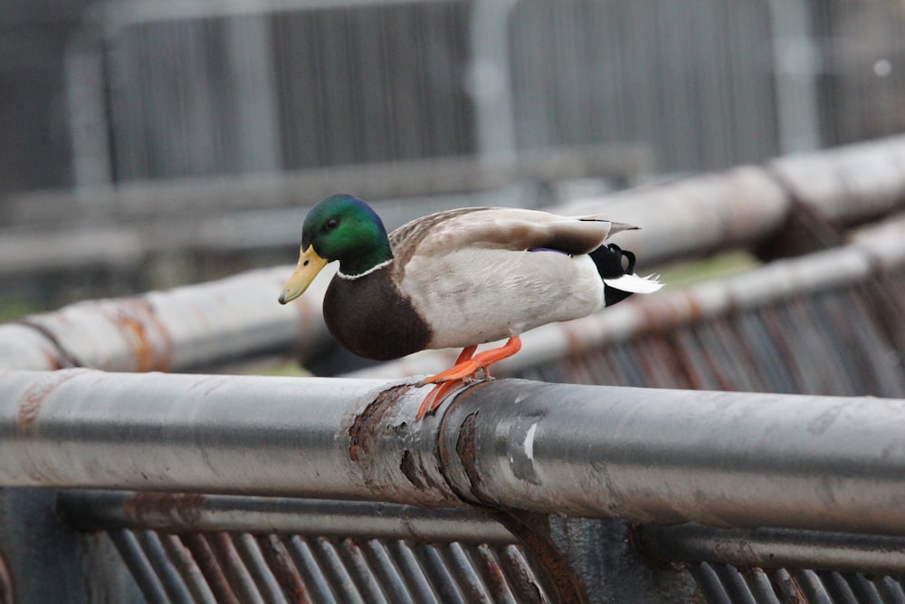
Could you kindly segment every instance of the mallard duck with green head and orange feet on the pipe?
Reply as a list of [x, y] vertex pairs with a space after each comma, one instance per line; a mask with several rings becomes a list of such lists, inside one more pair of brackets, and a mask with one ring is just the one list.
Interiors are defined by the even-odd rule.
[[[634, 273], [635, 256], [612, 235], [636, 226], [601, 216], [557, 216], [517, 207], [462, 207], [415, 218], [387, 234], [380, 216], [348, 194], [312, 206], [299, 262], [279, 302], [298, 298], [329, 263], [338, 272], [324, 295], [329, 332], [371, 360], [425, 349], [462, 348], [415, 419], [453, 388], [477, 379], [521, 348], [520, 334], [569, 321], [662, 287]], [[475, 354], [480, 344], [506, 340]]]

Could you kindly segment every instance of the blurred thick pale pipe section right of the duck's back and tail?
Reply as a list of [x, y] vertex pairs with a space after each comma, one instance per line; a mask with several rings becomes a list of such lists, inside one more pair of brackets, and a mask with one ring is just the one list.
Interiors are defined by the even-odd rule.
[[902, 208], [905, 136], [578, 200], [555, 211], [605, 214], [641, 226], [618, 235], [616, 243], [649, 264], [762, 242], [798, 202], [841, 228]]

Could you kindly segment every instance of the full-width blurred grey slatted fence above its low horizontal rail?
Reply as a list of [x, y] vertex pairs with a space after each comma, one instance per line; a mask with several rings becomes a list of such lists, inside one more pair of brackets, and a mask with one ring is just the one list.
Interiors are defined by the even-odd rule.
[[589, 145], [700, 171], [905, 128], [887, 0], [0, 5], [0, 196]]

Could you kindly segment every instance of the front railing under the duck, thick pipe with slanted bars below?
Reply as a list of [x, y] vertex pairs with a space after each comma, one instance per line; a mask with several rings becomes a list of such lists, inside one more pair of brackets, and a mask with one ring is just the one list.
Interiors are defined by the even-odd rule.
[[[105, 535], [91, 555], [116, 551], [151, 602], [729, 601], [713, 594], [771, 580], [774, 598], [806, 580], [832, 591], [824, 570], [901, 591], [887, 575], [905, 561], [880, 552], [905, 543], [905, 400], [500, 380], [414, 422], [422, 394], [376, 380], [9, 371], [0, 496], [15, 510], [9, 486], [138, 489], [63, 492], [55, 506]], [[775, 528], [742, 530], [763, 526]], [[619, 592], [576, 561], [606, 548], [624, 559], [606, 568], [621, 582], [647, 556], [682, 565]], [[818, 570], [796, 578], [788, 565]]]

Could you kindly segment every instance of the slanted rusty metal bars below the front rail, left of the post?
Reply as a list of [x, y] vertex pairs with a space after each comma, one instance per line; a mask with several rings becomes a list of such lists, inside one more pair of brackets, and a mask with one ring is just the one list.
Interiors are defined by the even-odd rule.
[[148, 602], [549, 602], [529, 551], [273, 533], [108, 532]]

